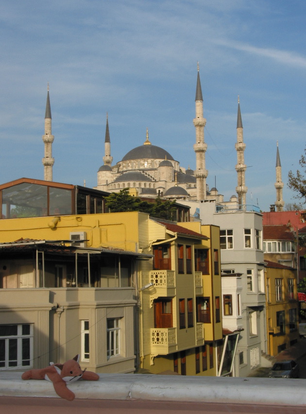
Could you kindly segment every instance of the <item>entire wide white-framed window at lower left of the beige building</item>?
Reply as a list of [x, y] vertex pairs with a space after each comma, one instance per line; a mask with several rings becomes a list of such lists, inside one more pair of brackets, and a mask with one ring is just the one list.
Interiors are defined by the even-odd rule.
[[33, 325], [0, 325], [0, 369], [29, 367], [33, 360]]

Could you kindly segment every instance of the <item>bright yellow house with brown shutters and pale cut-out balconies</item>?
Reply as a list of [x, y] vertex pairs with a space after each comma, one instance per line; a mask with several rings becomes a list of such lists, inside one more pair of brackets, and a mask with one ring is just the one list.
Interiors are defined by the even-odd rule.
[[140, 366], [155, 374], [216, 376], [222, 348], [220, 229], [150, 219], [149, 232], [154, 258], [153, 270], [146, 262], [141, 273]]

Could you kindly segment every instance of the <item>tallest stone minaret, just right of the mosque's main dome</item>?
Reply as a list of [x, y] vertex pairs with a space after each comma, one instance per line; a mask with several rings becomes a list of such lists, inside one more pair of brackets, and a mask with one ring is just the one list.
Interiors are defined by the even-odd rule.
[[203, 117], [203, 97], [200, 82], [200, 72], [198, 63], [198, 79], [195, 98], [195, 113], [196, 116], [193, 119], [193, 125], [196, 129], [196, 143], [193, 146], [196, 153], [196, 170], [194, 176], [197, 179], [197, 200], [206, 199], [206, 178], [208, 171], [205, 169], [205, 152], [207, 144], [204, 143], [204, 127], [206, 119]]

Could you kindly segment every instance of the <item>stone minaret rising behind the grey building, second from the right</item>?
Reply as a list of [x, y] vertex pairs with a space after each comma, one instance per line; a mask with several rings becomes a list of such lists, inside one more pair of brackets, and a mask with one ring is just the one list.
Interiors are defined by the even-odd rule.
[[244, 150], [245, 150], [245, 143], [243, 142], [243, 127], [242, 127], [242, 120], [241, 120], [241, 113], [240, 113], [240, 103], [238, 97], [238, 115], [237, 115], [237, 143], [235, 144], [235, 148], [237, 151], [237, 187], [236, 191], [238, 194], [238, 204], [240, 206], [246, 205], [246, 193], [248, 191], [248, 187], [245, 186], [245, 170], [246, 165], [244, 164]]

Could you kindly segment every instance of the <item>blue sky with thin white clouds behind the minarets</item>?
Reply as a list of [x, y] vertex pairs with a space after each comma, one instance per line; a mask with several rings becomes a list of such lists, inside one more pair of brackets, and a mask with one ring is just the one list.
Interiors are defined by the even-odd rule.
[[304, 0], [2, 0], [0, 182], [43, 179], [50, 83], [53, 180], [97, 185], [106, 112], [116, 164], [153, 145], [195, 168], [197, 61], [209, 187], [235, 194], [237, 99], [247, 203], [275, 202], [276, 142], [284, 200], [306, 140]]

